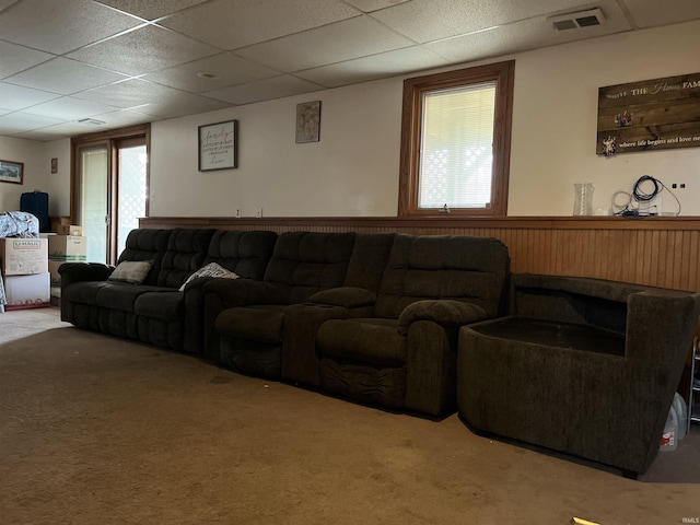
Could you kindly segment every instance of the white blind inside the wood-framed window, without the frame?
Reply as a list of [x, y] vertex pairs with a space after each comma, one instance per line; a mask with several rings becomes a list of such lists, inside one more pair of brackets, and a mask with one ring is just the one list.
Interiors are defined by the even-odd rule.
[[495, 88], [423, 94], [418, 208], [490, 208]]

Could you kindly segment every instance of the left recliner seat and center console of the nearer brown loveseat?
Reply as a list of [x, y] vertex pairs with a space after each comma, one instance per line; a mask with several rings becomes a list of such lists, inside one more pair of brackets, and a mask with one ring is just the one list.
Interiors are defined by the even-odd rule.
[[[317, 386], [316, 332], [328, 318], [370, 315], [393, 234], [283, 233], [262, 282], [214, 280], [206, 315], [221, 364]], [[316, 298], [334, 304], [314, 304]]]

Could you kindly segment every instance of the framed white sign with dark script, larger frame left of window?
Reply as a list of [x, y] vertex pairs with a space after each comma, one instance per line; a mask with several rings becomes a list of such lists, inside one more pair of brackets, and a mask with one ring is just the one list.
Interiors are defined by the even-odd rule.
[[238, 167], [238, 121], [199, 126], [199, 171]]

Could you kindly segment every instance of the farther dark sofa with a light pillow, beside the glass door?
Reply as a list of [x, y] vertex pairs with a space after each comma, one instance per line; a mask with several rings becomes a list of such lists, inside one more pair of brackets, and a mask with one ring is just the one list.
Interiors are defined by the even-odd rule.
[[202, 353], [206, 278], [179, 288], [209, 262], [248, 279], [261, 279], [272, 253], [273, 232], [133, 230], [118, 262], [149, 261], [140, 283], [109, 280], [115, 268], [94, 262], [61, 265], [61, 320], [80, 328]]

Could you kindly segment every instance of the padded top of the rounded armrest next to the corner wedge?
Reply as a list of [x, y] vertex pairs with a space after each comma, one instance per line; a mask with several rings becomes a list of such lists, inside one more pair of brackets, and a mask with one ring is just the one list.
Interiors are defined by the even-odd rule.
[[474, 303], [447, 299], [416, 301], [401, 312], [398, 331], [408, 334], [410, 325], [417, 320], [432, 320], [441, 326], [462, 326], [488, 318], [489, 314]]

